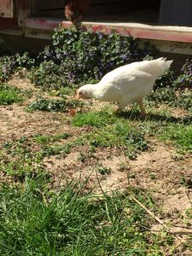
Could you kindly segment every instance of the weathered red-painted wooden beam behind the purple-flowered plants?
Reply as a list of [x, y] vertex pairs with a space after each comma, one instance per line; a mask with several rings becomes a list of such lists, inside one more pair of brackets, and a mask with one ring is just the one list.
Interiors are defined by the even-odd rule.
[[[53, 30], [55, 27], [72, 26], [71, 22], [46, 19], [27, 18], [26, 27], [43, 30]], [[149, 26], [138, 23], [103, 23], [103, 22], [83, 22], [83, 25], [92, 31], [101, 31], [104, 34], [118, 32], [133, 38], [146, 38], [155, 40], [165, 40], [183, 43], [192, 43], [192, 27], [185, 26]]]

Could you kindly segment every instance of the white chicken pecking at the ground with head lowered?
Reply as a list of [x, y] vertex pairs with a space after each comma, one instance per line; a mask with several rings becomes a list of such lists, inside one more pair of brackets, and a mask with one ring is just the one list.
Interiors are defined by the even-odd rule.
[[118, 67], [107, 73], [98, 84], [85, 84], [77, 91], [76, 98], [95, 98], [102, 102], [118, 102], [119, 113], [128, 104], [137, 102], [141, 116], [146, 114], [143, 97], [153, 90], [154, 82], [171, 66], [172, 61], [159, 58], [139, 61]]

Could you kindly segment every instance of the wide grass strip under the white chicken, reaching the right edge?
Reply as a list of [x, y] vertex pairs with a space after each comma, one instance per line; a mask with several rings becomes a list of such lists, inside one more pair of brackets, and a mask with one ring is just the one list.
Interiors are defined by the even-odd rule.
[[[153, 112], [154, 108], [151, 109]], [[156, 111], [142, 121], [126, 113], [117, 117], [110, 109], [90, 111], [75, 115], [72, 124], [95, 127], [82, 136], [82, 141], [90, 143], [93, 150], [100, 147], [124, 148], [130, 160], [137, 159], [137, 151], [148, 149], [145, 137], [170, 142], [181, 153], [191, 152], [191, 117], [175, 118], [169, 111]]]

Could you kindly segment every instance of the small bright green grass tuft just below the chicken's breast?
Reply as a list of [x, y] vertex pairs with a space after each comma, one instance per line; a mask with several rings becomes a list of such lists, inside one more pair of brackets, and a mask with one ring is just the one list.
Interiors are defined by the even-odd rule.
[[86, 112], [86, 113], [77, 113], [72, 120], [74, 126], [94, 126], [102, 127], [108, 124], [113, 124], [117, 121], [117, 117], [106, 110], [101, 110], [99, 112]]

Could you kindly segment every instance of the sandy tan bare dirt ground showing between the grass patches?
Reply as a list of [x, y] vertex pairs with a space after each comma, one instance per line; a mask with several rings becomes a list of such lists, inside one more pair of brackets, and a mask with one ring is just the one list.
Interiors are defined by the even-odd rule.
[[[20, 79], [13, 79], [9, 84], [34, 90], [27, 80], [22, 82]], [[26, 113], [25, 108], [26, 102], [0, 107], [0, 143], [37, 133], [53, 135], [68, 132], [75, 137], [84, 132], [84, 128], [67, 125], [67, 113]], [[52, 175], [55, 187], [61, 188], [72, 179], [84, 180], [89, 177], [87, 186], [96, 193], [101, 193], [101, 190], [110, 193], [114, 189], [129, 187], [148, 189], [162, 212], [159, 217], [164, 223], [170, 224], [173, 231], [192, 235], [192, 223], [185, 223], [186, 210], [192, 207], [192, 189], [181, 184], [181, 177], [186, 180], [191, 178], [191, 155], [175, 160], [176, 150], [157, 140], [150, 143], [148, 151], [139, 154], [137, 160], [128, 160], [117, 148], [103, 148], [102, 151], [96, 149], [94, 157], [90, 155], [81, 162], [80, 152], [89, 152], [89, 148], [79, 146], [73, 148], [67, 157], [56, 155], [44, 158], [44, 168]], [[101, 175], [97, 172], [98, 166], [108, 166], [110, 173]], [[162, 226], [158, 223], [153, 227], [154, 230], [159, 228]], [[180, 255], [191, 254], [181, 252]]]

